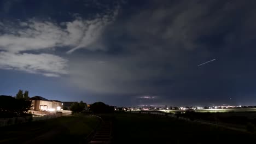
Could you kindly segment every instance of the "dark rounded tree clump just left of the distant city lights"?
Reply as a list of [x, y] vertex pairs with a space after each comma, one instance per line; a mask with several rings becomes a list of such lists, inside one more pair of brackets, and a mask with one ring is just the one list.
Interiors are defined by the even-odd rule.
[[114, 106], [109, 106], [102, 102], [97, 102], [91, 105], [91, 111], [93, 113], [113, 113]]

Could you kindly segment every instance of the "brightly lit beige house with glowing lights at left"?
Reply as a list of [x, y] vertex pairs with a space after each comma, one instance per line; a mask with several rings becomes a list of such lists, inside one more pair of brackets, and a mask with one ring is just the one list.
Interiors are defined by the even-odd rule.
[[56, 111], [62, 109], [62, 102], [59, 100], [48, 100], [40, 96], [30, 98], [32, 101], [31, 110], [34, 111]]

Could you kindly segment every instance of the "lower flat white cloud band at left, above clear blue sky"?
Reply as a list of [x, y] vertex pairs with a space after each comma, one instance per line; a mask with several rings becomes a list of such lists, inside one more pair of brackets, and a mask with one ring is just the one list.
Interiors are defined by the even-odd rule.
[[67, 60], [46, 53], [10, 53], [0, 52], [0, 69], [14, 69], [27, 73], [43, 74], [44, 76], [58, 77], [68, 74]]

